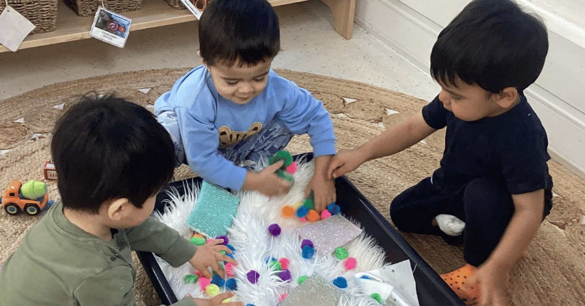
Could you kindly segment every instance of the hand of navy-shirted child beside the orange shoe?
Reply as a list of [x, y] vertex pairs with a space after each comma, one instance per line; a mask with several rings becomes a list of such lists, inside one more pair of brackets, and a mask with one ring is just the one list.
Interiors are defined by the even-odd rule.
[[477, 269], [473, 277], [464, 286], [477, 285], [480, 288], [480, 306], [506, 306], [508, 298], [505, 288], [508, 285], [508, 271], [498, 269], [489, 261]]

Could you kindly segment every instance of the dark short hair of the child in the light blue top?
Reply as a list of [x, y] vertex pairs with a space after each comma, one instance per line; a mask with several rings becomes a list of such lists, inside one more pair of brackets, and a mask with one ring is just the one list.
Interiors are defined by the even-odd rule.
[[278, 16], [267, 0], [212, 0], [199, 19], [199, 54], [208, 65], [254, 66], [278, 51]]

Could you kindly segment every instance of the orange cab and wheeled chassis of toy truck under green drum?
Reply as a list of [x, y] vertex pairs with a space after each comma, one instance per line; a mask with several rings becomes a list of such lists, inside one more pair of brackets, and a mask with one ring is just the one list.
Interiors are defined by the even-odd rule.
[[20, 212], [26, 212], [29, 215], [38, 215], [44, 209], [51, 207], [53, 201], [49, 201], [49, 194], [45, 193], [43, 197], [37, 200], [29, 200], [20, 193], [20, 181], [11, 181], [2, 194], [0, 204], [9, 215], [18, 215]]

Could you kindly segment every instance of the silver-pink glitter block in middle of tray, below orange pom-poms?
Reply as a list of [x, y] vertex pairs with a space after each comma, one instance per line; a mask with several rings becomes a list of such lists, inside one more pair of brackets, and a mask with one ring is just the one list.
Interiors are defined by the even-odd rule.
[[313, 224], [298, 229], [302, 239], [309, 239], [319, 256], [333, 252], [337, 247], [346, 245], [362, 233], [351, 221], [342, 215], [333, 215]]

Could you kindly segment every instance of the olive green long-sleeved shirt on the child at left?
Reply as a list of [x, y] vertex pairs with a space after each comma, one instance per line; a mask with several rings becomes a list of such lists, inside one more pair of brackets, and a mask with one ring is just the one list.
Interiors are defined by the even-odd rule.
[[[153, 252], [178, 267], [195, 246], [177, 231], [148, 218], [128, 229], [112, 229], [104, 241], [78, 228], [58, 203], [32, 226], [0, 271], [1, 305], [136, 305], [136, 268], [130, 250]], [[173, 305], [195, 305], [184, 298]]]

